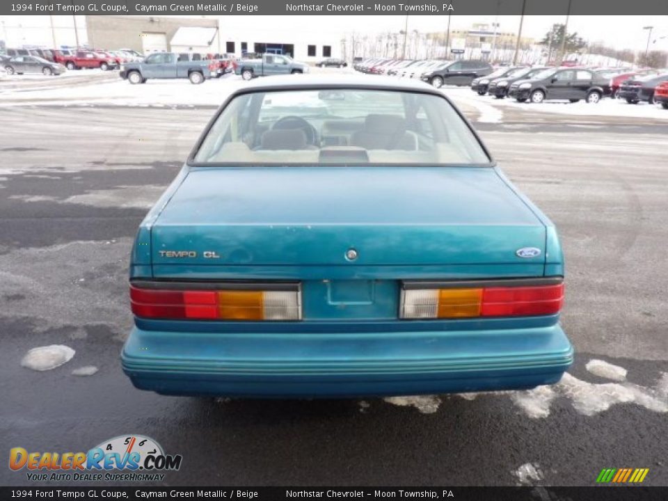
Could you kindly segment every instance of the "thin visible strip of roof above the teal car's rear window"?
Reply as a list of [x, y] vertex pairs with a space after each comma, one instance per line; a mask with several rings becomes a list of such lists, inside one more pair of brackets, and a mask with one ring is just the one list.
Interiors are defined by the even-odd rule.
[[392, 77], [369, 77], [367, 75], [337, 74], [290, 74], [264, 77], [250, 81], [240, 87], [236, 93], [247, 90], [285, 90], [285, 89], [318, 89], [318, 88], [364, 88], [376, 90], [404, 90], [406, 92], [422, 92], [443, 95], [437, 89], [422, 81], [399, 80]]

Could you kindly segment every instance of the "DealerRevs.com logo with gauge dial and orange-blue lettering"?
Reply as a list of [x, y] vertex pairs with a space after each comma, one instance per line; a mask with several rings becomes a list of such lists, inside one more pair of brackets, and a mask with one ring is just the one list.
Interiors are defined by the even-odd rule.
[[149, 482], [161, 481], [165, 471], [181, 467], [180, 454], [165, 454], [152, 438], [117, 436], [88, 452], [28, 452], [13, 447], [9, 468], [26, 470], [32, 482]]

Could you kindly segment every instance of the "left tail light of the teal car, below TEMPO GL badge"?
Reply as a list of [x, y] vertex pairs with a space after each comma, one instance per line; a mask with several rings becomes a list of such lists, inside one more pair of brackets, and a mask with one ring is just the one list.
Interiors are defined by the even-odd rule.
[[299, 320], [299, 289], [155, 289], [130, 285], [137, 317], [197, 320]]

